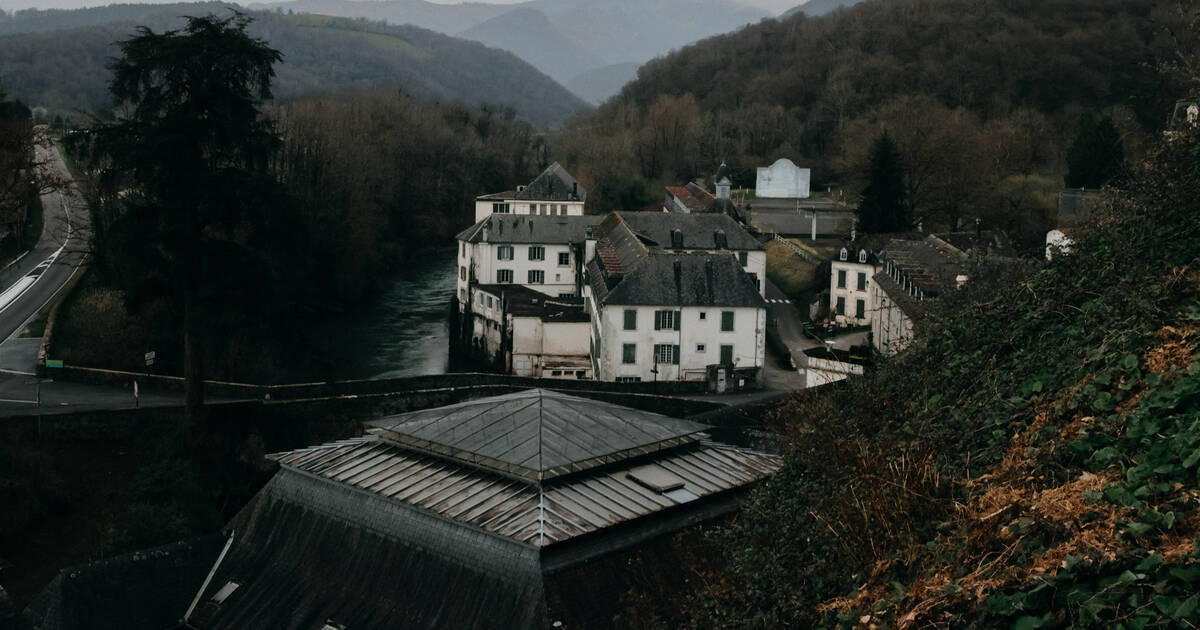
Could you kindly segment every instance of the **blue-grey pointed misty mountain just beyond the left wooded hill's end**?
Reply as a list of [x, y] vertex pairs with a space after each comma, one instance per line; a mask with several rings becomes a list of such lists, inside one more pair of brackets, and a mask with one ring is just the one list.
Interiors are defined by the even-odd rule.
[[605, 65], [602, 59], [563, 35], [540, 11], [529, 7], [497, 16], [458, 36], [508, 50], [564, 84]]

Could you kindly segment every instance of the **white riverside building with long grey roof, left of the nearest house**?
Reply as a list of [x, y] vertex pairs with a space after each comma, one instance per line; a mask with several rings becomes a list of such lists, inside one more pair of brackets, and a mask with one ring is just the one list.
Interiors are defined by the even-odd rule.
[[473, 284], [518, 284], [552, 298], [578, 296], [596, 216], [491, 215], [461, 232], [456, 295]]

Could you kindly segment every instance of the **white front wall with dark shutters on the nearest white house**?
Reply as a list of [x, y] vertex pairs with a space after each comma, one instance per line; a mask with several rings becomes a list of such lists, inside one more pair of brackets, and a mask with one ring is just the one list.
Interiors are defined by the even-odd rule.
[[[589, 293], [589, 292], [588, 292]], [[599, 307], [587, 301], [592, 316], [593, 367], [600, 380], [703, 380], [707, 367], [725, 359], [737, 368], [762, 367], [766, 354], [766, 308], [685, 306]], [[625, 312], [636, 313], [632, 329], [626, 329]], [[674, 322], [655, 330], [655, 312], [678, 313]], [[722, 329], [722, 313], [732, 313], [732, 330]], [[672, 318], [674, 316], [671, 316]], [[727, 318], [728, 316], [724, 316]], [[626, 346], [631, 354], [626, 355]], [[670, 346], [670, 350], [664, 347]], [[655, 348], [660, 349], [655, 362]], [[674, 348], [678, 347], [676, 362]], [[728, 348], [725, 350], [724, 348]], [[626, 361], [626, 359], [632, 359]], [[653, 371], [658, 368], [658, 374]]]

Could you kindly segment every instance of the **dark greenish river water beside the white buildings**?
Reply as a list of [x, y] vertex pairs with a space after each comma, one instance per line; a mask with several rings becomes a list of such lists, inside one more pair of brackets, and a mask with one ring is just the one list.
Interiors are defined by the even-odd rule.
[[407, 263], [371, 306], [344, 319], [332, 344], [332, 378], [444, 374], [446, 314], [455, 292], [455, 248]]

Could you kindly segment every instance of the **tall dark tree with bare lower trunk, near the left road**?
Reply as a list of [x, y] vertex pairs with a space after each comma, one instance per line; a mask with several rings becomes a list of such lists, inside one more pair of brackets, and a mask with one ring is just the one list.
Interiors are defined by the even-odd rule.
[[270, 197], [278, 145], [259, 107], [282, 55], [247, 35], [248, 23], [235, 12], [162, 34], [139, 29], [112, 65], [124, 115], [92, 130], [106, 192], [96, 247], [126, 283], [181, 312], [192, 425], [204, 403], [206, 311], [245, 272], [234, 262], [246, 258], [254, 211]]

